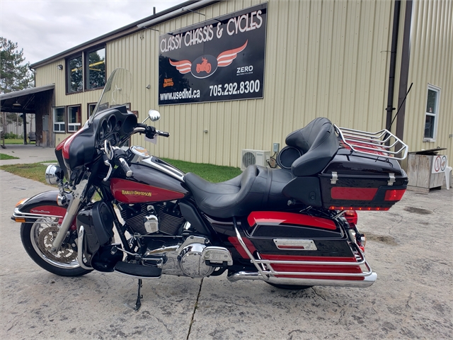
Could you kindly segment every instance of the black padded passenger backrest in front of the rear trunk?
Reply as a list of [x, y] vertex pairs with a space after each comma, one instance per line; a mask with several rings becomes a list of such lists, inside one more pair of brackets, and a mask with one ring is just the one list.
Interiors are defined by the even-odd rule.
[[292, 163], [294, 176], [318, 174], [338, 151], [338, 138], [327, 118], [312, 120], [305, 128], [291, 132], [285, 142], [304, 153]]

